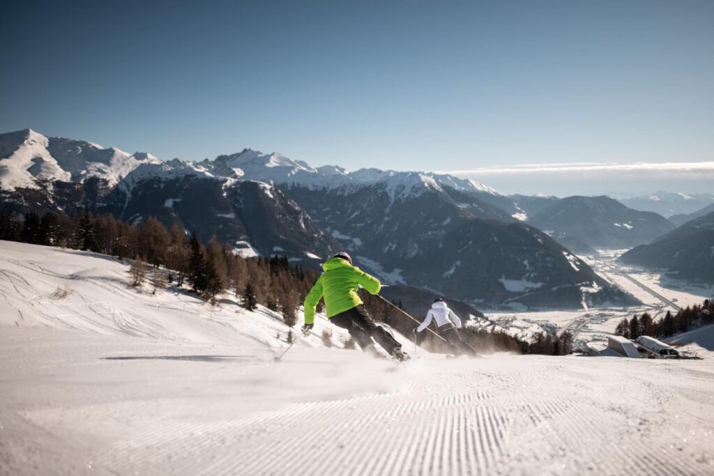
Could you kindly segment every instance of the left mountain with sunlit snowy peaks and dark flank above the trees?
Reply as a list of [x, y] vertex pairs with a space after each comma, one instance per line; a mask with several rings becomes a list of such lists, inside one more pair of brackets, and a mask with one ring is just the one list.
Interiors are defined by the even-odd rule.
[[[271, 183], [213, 175], [213, 167], [31, 130], [0, 135], [0, 209], [111, 213], [130, 223], [148, 216], [230, 241], [236, 252], [317, 263], [338, 243]], [[267, 219], [266, 219], [267, 218]]]

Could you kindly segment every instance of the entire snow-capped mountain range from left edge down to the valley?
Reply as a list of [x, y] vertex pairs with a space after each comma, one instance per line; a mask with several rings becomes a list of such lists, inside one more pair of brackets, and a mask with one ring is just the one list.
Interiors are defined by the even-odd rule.
[[521, 223], [526, 212], [511, 198], [453, 176], [313, 168], [248, 149], [164, 162], [34, 131], [1, 135], [0, 151], [5, 210], [89, 209], [131, 223], [156, 216], [204, 240], [313, 265], [347, 248], [386, 283], [470, 303], [580, 308], [633, 300]]

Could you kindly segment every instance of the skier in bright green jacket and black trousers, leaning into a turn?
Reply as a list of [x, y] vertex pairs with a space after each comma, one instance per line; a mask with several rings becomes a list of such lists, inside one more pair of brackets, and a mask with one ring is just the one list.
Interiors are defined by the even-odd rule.
[[379, 280], [353, 266], [351, 256], [344, 252], [327, 260], [322, 268], [325, 272], [305, 297], [303, 332], [313, 327], [317, 303], [324, 298], [327, 318], [334, 325], [347, 329], [362, 350], [376, 352], [374, 339], [389, 355], [407, 360], [409, 356], [401, 350], [401, 344], [374, 322], [357, 293], [360, 286], [371, 294], [378, 293], [382, 287]]

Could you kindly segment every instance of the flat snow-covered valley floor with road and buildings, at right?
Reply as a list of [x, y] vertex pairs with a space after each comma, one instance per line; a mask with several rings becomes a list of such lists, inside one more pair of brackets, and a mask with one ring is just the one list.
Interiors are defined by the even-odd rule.
[[[585, 343], [605, 341], [615, 331], [623, 318], [650, 313], [658, 319], [670, 310], [701, 304], [705, 299], [714, 298], [714, 286], [694, 285], [678, 280], [670, 280], [661, 273], [652, 273], [640, 268], [623, 265], [617, 261], [625, 250], [599, 250], [594, 256], [580, 256], [596, 273], [620, 286], [638, 298], [643, 305], [630, 308], [593, 308], [589, 310], [543, 310], [533, 312], [493, 312], [486, 311], [486, 317], [503, 330], [523, 339], [530, 339], [534, 333], [565, 330], [573, 333], [576, 347]], [[483, 325], [483, 323], [478, 323]]]

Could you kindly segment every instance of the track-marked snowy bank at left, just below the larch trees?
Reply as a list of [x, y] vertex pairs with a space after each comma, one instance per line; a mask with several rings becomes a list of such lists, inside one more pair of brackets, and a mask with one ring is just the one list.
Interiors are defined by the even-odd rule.
[[[275, 352], [286, 345], [288, 326], [262, 306], [248, 312], [235, 296], [223, 295], [214, 307], [176, 288], [152, 294], [146, 284], [139, 293], [128, 283], [129, 265], [111, 256], [0, 241], [2, 325], [258, 345]], [[313, 335], [301, 345], [322, 346], [319, 335], [330, 327], [318, 316]], [[330, 331], [340, 345], [346, 333]]]

